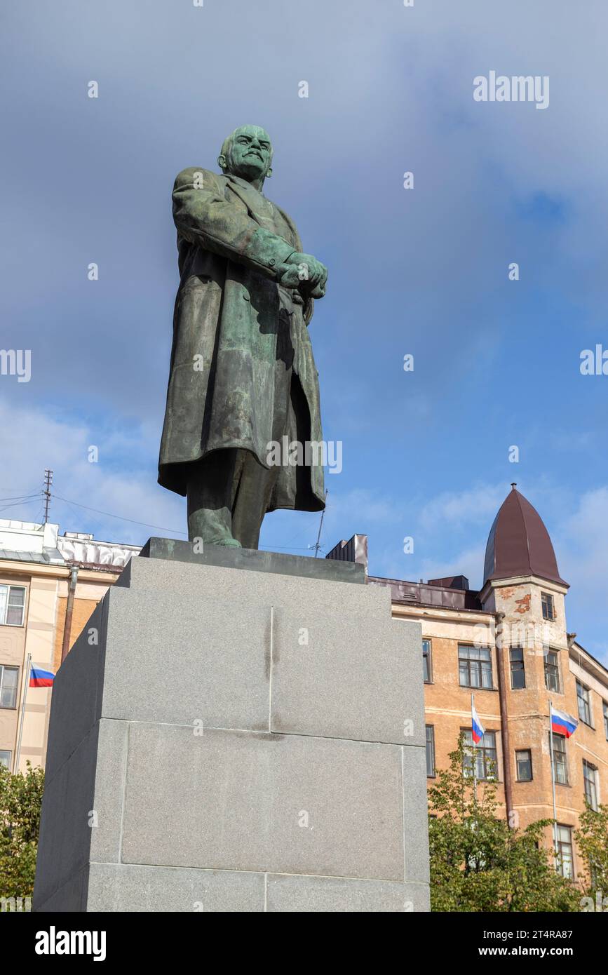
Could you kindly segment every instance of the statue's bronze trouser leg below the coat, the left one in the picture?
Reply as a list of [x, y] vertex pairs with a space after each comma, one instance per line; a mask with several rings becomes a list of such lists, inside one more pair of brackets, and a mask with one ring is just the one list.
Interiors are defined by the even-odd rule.
[[239, 450], [216, 450], [205, 460], [192, 465], [186, 496], [188, 538], [202, 538], [209, 545], [240, 547], [233, 535], [232, 504], [235, 466]]

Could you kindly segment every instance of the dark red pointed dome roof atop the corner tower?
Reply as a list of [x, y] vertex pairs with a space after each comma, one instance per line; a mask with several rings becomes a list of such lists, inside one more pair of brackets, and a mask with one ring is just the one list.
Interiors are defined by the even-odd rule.
[[483, 581], [485, 584], [489, 579], [510, 579], [515, 575], [538, 575], [562, 586], [568, 584], [559, 575], [543, 519], [513, 487], [490, 528]]

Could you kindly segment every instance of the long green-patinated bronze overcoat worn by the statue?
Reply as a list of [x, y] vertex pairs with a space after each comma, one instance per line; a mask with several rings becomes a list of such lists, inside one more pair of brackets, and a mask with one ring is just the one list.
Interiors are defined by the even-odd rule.
[[[188, 465], [212, 450], [244, 448], [268, 467], [281, 433], [302, 445], [323, 434], [313, 301], [277, 283], [302, 250], [293, 222], [245, 179], [200, 168], [177, 176], [172, 199], [180, 282], [159, 483], [185, 495]], [[320, 511], [323, 496], [321, 463], [282, 465], [268, 511]]]

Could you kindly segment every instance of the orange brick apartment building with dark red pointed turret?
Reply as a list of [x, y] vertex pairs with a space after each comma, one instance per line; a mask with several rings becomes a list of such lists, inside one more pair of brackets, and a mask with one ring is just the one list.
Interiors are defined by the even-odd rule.
[[[327, 558], [366, 563], [365, 537]], [[429, 782], [448, 767], [461, 731], [473, 745], [474, 694], [485, 728], [477, 779], [497, 779], [513, 825], [552, 819], [550, 701], [577, 719], [570, 738], [553, 735], [559, 869], [576, 877], [579, 816], [586, 800], [608, 802], [608, 670], [568, 632], [568, 584], [538, 512], [513, 485], [489, 531], [478, 592], [462, 575], [367, 582], [390, 587], [395, 618], [422, 624]], [[472, 751], [470, 771], [473, 761]]]

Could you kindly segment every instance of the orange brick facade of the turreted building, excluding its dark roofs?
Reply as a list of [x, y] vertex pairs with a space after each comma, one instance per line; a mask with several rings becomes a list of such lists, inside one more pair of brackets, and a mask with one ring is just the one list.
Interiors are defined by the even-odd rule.
[[[543, 618], [542, 593], [549, 593], [553, 598], [553, 620]], [[396, 618], [419, 620], [423, 639], [429, 642], [430, 681], [425, 683], [425, 718], [427, 725], [433, 728], [430, 748], [434, 749], [435, 768], [448, 767], [449, 753], [456, 747], [461, 729], [471, 729], [473, 693], [475, 709], [486, 732], [495, 732], [497, 798], [503, 816], [507, 810], [506, 762], [511, 769], [509, 808], [513, 826], [523, 828], [538, 819], [552, 820], [550, 699], [553, 707], [579, 721], [575, 733], [567, 740], [562, 739], [567, 781], [563, 784], [556, 781], [555, 785], [557, 822], [566, 828], [559, 832], [558, 839], [567, 839], [567, 828], [570, 829], [572, 866], [565, 869], [571, 869], [576, 877], [582, 870], [574, 831], [585, 809], [584, 761], [588, 763], [588, 776], [594, 779], [595, 800], [608, 801], [608, 718], [605, 717], [608, 713], [608, 672], [566, 633], [564, 593], [563, 587], [546, 580], [527, 578], [509, 586], [496, 584], [482, 593], [484, 605], [492, 611], [455, 611], [431, 606], [404, 606], [395, 602], [393, 612]], [[490, 651], [491, 689], [461, 683], [459, 646], [475, 645]], [[524, 683], [524, 686], [513, 687], [512, 648], [522, 651], [522, 668], [517, 662], [519, 675], [515, 675], [514, 682]], [[551, 669], [549, 678], [546, 673], [548, 660], [551, 664], [554, 661], [556, 666], [556, 670]], [[501, 664], [509, 739], [507, 753], [498, 681]], [[577, 680], [587, 694], [588, 703], [582, 710], [589, 723], [580, 718]], [[555, 681], [558, 689], [554, 687]], [[529, 753], [531, 769], [524, 762], [523, 772], [526, 775], [531, 772], [530, 781], [518, 778], [517, 753]], [[552, 844], [551, 828], [547, 831], [547, 843]]]

